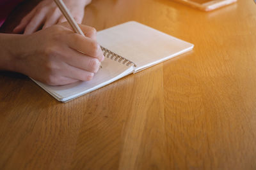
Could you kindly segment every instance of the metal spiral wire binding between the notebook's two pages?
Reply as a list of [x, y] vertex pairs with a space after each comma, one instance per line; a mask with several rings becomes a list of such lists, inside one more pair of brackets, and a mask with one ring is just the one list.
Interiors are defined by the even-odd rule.
[[126, 66], [130, 66], [130, 64], [132, 64], [134, 67], [136, 67], [136, 64], [134, 62], [131, 62], [130, 60], [127, 60], [124, 57], [121, 57], [120, 55], [111, 52], [107, 48], [104, 48], [102, 46], [100, 47], [105, 57], [108, 57], [111, 60], [116, 60], [120, 63], [122, 62], [122, 64], [125, 64]]

